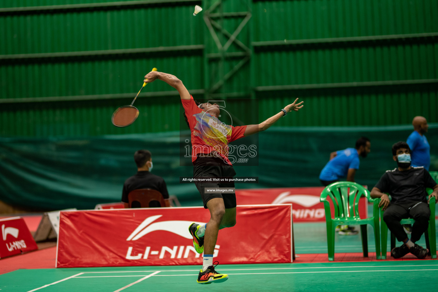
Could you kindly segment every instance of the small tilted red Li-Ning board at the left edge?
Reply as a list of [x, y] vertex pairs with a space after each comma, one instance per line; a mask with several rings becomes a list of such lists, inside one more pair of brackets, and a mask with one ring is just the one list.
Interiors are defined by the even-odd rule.
[[0, 219], [0, 227], [1, 239], [3, 240], [3, 243], [0, 244], [0, 258], [38, 250], [23, 218]]

